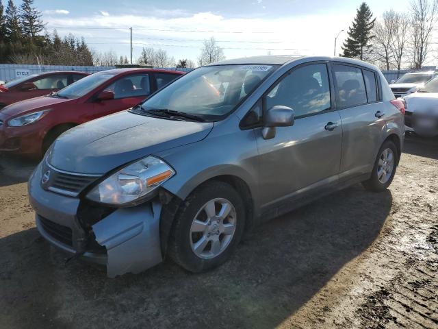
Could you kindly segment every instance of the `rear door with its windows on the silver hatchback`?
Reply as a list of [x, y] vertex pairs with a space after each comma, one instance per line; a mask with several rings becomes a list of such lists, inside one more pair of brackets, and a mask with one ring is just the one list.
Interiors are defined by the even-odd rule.
[[385, 130], [385, 106], [374, 71], [361, 66], [333, 64], [336, 101], [342, 120], [340, 180], [372, 171]]

